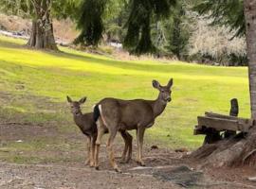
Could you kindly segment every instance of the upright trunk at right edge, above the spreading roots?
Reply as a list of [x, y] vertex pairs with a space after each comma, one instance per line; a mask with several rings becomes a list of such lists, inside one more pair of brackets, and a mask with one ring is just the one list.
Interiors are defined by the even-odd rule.
[[256, 0], [245, 0], [251, 117], [256, 119]]

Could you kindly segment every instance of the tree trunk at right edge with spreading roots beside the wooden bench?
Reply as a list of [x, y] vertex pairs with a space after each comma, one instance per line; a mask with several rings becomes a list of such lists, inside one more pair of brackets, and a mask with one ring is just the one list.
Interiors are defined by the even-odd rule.
[[223, 139], [194, 151], [191, 158], [201, 161], [203, 165], [256, 165], [256, 0], [244, 0], [244, 10], [247, 25], [251, 118], [254, 119], [254, 126], [248, 130], [247, 134], [239, 133], [229, 140]]

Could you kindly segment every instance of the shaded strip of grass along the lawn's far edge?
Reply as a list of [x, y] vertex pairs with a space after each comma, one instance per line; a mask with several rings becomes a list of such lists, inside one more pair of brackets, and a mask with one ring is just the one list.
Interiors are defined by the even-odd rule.
[[[6, 42], [1, 39], [0, 39], [0, 46], [14, 48], [14, 49], [15, 48], [25, 48], [25, 49], [30, 49], [30, 50], [36, 50], [33, 48], [28, 48], [26, 45], [12, 43], [12, 42]], [[54, 56], [57, 58], [64, 58], [66, 60], [70, 60], [70, 62], [72, 62], [72, 60], [80, 60], [80, 61], [84, 61], [84, 62], [91, 62], [91, 63], [95, 63], [95, 64], [106, 65], [106, 66], [116, 67], [116, 68], [125, 69], [125, 70], [134, 70], [134, 71], [159, 73], [159, 74], [160, 73], [170, 74], [170, 77], [172, 77], [173, 73], [179, 74], [181, 72], [183, 75], [187, 74], [190, 76], [198, 76], [198, 74], [200, 74], [200, 76], [214, 75], [214, 72], [213, 73], [211, 72], [212, 69], [204, 69], [204, 68], [197, 69], [196, 67], [188, 66], [186, 64], [180, 64], [178, 66], [176, 64], [168, 65], [168, 64], [164, 64], [164, 63], [160, 63], [160, 62], [159, 62], [159, 64], [156, 64], [156, 63], [155, 64], [144, 64], [139, 61], [131, 62], [131, 61], [121, 61], [121, 60], [105, 60], [105, 59], [101, 59], [98, 57], [87, 56], [86, 54], [78, 55], [78, 54], [72, 54], [72, 53], [64, 52], [64, 51], [58, 51], [58, 52], [47, 51], [47, 50], [38, 50], [38, 51], [44, 52], [50, 56]], [[226, 76], [227, 73], [224, 72], [223, 75]], [[241, 76], [235, 76], [235, 77], [241, 77]]]

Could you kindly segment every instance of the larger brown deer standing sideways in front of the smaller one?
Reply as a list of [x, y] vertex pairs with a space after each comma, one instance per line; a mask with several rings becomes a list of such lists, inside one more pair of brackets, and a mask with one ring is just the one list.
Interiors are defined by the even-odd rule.
[[137, 163], [145, 165], [142, 161], [142, 145], [145, 129], [151, 128], [155, 118], [161, 114], [167, 103], [172, 100], [171, 87], [173, 78], [166, 86], [161, 86], [153, 80], [153, 87], [159, 91], [155, 100], [122, 100], [117, 98], [104, 98], [94, 108], [94, 116], [97, 121], [98, 137], [96, 141], [95, 166], [99, 168], [99, 150], [101, 137], [105, 130], [109, 131], [107, 150], [109, 161], [116, 171], [120, 171], [115, 162], [113, 142], [119, 130], [137, 129]]

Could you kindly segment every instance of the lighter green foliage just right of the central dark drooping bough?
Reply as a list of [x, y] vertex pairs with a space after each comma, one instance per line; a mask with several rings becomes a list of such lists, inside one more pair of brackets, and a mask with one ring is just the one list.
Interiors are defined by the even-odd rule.
[[152, 25], [152, 39], [159, 55], [175, 56], [178, 60], [188, 57], [189, 42], [194, 21], [188, 16], [189, 6], [186, 1], [179, 1], [171, 8], [167, 19]]

